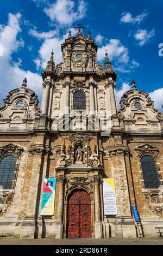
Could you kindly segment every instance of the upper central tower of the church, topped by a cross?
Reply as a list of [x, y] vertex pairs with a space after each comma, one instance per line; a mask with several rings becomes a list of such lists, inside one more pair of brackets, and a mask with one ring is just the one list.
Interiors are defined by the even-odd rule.
[[[98, 45], [91, 39], [90, 31], [84, 37], [84, 27], [79, 24], [76, 28], [76, 36], [72, 37], [70, 31], [61, 45], [62, 62], [55, 66], [52, 52], [42, 73], [41, 110], [52, 130], [93, 129], [105, 132], [118, 125], [117, 74], [107, 52], [104, 67], [97, 63]], [[74, 118], [76, 120], [73, 121]]]

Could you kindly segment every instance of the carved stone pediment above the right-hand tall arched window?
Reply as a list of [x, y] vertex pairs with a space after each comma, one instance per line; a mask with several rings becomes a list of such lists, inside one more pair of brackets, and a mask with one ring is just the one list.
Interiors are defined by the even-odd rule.
[[143, 144], [139, 147], [135, 147], [134, 150], [137, 152], [138, 156], [142, 156], [142, 154], [153, 154], [154, 157], [158, 157], [159, 148], [154, 147], [149, 144]]

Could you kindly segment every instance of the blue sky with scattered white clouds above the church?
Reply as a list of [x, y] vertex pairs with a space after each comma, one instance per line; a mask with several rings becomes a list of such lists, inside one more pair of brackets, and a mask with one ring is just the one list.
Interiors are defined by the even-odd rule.
[[[5, 0], [0, 10], [0, 100], [18, 88], [27, 76], [28, 87], [41, 101], [41, 72], [54, 48], [55, 64], [61, 61], [60, 44], [74, 26], [82, 23], [98, 47], [98, 62], [108, 50], [118, 74], [117, 97], [134, 79], [150, 93], [155, 106], [163, 104], [159, 44], [163, 43], [161, 0]], [[3, 49], [2, 49], [3, 46]], [[2, 52], [3, 50], [3, 52]], [[2, 54], [3, 53], [3, 54]], [[3, 56], [2, 56], [3, 55]]]

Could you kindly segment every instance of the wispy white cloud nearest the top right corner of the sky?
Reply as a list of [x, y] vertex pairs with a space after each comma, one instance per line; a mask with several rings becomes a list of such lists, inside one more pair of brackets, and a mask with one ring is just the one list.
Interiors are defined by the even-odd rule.
[[138, 23], [140, 24], [141, 21], [143, 21], [143, 19], [145, 19], [145, 17], [148, 15], [148, 13], [141, 13], [135, 17], [133, 17], [131, 15], [131, 13], [122, 13], [122, 17], [121, 17], [121, 22], [124, 22], [124, 23]]

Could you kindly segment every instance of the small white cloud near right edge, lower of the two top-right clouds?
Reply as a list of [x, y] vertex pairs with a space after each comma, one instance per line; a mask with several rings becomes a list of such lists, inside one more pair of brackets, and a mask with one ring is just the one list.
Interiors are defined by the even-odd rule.
[[135, 34], [134, 38], [139, 41], [137, 45], [143, 46], [144, 44], [148, 43], [148, 41], [154, 36], [155, 30], [148, 32], [146, 29], [139, 29]]

